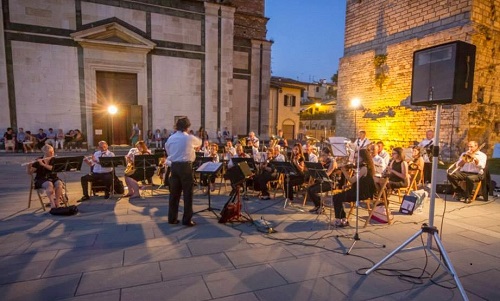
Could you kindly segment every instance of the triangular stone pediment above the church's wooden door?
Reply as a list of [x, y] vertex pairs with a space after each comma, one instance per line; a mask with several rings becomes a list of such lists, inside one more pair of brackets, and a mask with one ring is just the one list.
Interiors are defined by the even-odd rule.
[[81, 30], [72, 33], [71, 37], [83, 47], [149, 52], [156, 46], [154, 42], [117, 22]]

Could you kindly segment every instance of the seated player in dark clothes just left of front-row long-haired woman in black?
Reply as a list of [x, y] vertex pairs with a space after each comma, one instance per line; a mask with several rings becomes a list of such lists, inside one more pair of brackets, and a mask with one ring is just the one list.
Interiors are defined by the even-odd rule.
[[326, 169], [326, 174], [330, 178], [331, 182], [324, 182], [316, 179], [314, 184], [307, 188], [307, 195], [314, 203], [314, 208], [309, 210], [311, 213], [321, 213], [323, 211], [319, 193], [333, 189], [333, 181], [335, 180], [333, 171], [337, 169], [337, 162], [335, 161], [335, 158], [333, 158], [332, 151], [328, 147], [323, 147], [321, 150], [320, 161], [323, 168]]

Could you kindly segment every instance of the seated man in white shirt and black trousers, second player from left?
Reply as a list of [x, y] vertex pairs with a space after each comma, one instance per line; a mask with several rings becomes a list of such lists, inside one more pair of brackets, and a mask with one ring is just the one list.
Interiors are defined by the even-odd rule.
[[108, 150], [108, 143], [106, 141], [99, 141], [99, 150], [96, 151], [91, 158], [85, 158], [84, 162], [90, 166], [91, 172], [80, 178], [83, 190], [83, 197], [80, 202], [90, 199], [89, 197], [89, 182], [100, 181], [106, 187], [104, 191], [104, 198], [109, 199], [111, 189], [113, 186], [113, 168], [102, 167], [99, 164], [100, 157], [114, 157], [115, 154]]

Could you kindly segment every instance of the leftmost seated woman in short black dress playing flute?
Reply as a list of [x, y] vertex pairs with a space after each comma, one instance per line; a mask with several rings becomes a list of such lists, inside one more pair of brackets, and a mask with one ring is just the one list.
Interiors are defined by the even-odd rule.
[[57, 173], [52, 172], [54, 162], [54, 148], [46, 144], [42, 146], [43, 157], [38, 158], [34, 163], [28, 164], [27, 171], [31, 175], [35, 173], [35, 188], [43, 188], [50, 200], [50, 207], [59, 207], [59, 200], [63, 193], [63, 183], [57, 177]]

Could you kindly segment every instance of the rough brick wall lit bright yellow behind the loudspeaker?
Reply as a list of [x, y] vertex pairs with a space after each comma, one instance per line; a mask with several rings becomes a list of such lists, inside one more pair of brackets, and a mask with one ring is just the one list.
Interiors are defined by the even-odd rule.
[[[348, 1], [344, 57], [339, 66], [337, 135], [354, 137], [365, 129], [370, 139], [408, 147], [434, 129], [433, 107], [410, 105], [413, 53], [462, 40], [477, 47], [472, 103], [443, 106], [442, 155], [456, 158], [468, 140], [486, 142], [491, 154], [499, 141], [496, 8], [500, 0]], [[356, 112], [351, 99], [361, 99]]]

